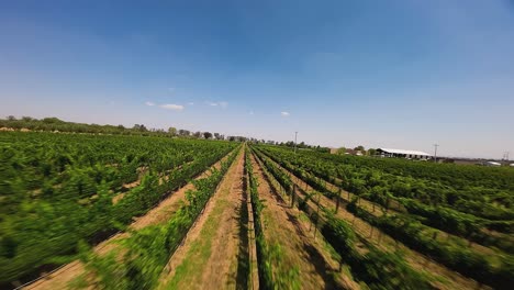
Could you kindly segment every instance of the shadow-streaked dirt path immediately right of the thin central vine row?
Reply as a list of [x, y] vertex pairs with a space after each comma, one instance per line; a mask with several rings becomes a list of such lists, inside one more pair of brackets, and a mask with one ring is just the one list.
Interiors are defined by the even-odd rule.
[[270, 245], [277, 243], [283, 249], [283, 263], [273, 267], [298, 267], [302, 289], [359, 289], [349, 278], [337, 274], [337, 261], [314, 242], [313, 232], [299, 219], [300, 212], [291, 209], [271, 189], [255, 156], [250, 159], [259, 185], [259, 199], [265, 203], [261, 212], [264, 235]]

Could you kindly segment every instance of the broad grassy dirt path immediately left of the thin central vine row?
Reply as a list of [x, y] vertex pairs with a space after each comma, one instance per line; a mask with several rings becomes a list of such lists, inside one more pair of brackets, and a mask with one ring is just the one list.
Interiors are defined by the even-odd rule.
[[237, 281], [239, 221], [241, 209], [246, 207], [243, 152], [244, 147], [183, 245], [171, 256], [160, 280], [161, 289], [241, 288]]

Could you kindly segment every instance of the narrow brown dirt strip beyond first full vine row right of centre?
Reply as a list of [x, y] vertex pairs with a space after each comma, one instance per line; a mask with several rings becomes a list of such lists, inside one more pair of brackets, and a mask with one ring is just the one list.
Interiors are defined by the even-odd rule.
[[[311, 188], [309, 185], [303, 182], [303, 180], [299, 179], [290, 171], [281, 167], [279, 164], [275, 163], [270, 158], [268, 158], [268, 160], [272, 161], [278, 168], [293, 177], [292, 181], [297, 183], [297, 194], [299, 194], [300, 197], [304, 197], [305, 188], [308, 192], [314, 191], [313, 188]], [[320, 196], [320, 204], [327, 209], [335, 209], [335, 201], [322, 194]], [[409, 247], [404, 246], [401, 242], [395, 241], [389, 235], [382, 233], [379, 228], [371, 226], [364, 220], [348, 212], [345, 209], [344, 204], [340, 204], [336, 216], [348, 222], [353, 226], [356, 234], [358, 234], [361, 238], [366, 239], [367, 242], [372, 243], [378, 248], [386, 252], [399, 249], [403, 253], [403, 256], [407, 264], [414, 269], [444, 279], [444, 282], [434, 282], [434, 286], [439, 289], [489, 289], [487, 286], [481, 286], [473, 279], [467, 278], [451, 269], [448, 269], [446, 266], [429, 259], [425, 255], [410, 249]]]

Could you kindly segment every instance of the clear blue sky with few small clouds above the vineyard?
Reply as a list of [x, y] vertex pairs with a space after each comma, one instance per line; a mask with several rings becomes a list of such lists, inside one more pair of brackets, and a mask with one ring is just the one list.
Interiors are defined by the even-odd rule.
[[514, 2], [1, 1], [0, 115], [514, 156]]

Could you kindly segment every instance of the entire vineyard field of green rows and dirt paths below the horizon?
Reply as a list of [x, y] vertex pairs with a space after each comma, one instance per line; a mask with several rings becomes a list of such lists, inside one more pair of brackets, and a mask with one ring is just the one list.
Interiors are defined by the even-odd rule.
[[0, 132], [0, 288], [510, 289], [514, 170]]

